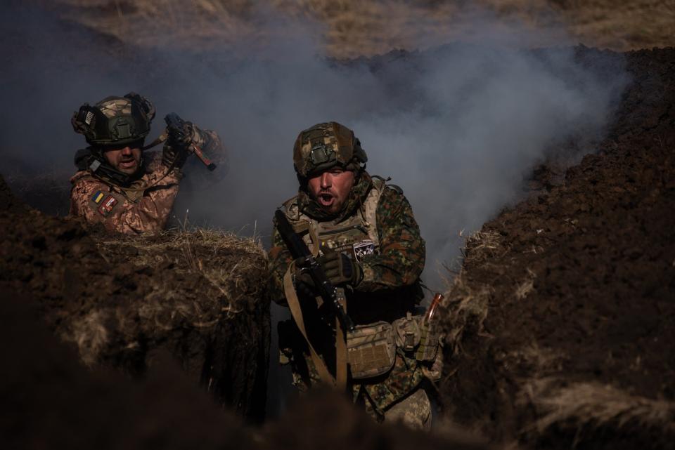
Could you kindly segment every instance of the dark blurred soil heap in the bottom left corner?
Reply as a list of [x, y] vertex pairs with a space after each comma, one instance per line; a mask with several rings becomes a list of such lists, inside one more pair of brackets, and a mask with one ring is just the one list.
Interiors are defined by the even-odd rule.
[[0, 289], [0, 446], [4, 449], [252, 448], [168, 355], [143, 380], [86, 369], [37, 320], [29, 293]]

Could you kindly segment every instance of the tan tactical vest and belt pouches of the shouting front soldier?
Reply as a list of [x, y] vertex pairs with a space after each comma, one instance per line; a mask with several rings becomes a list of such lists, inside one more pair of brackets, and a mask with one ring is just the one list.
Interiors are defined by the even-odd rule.
[[[397, 189], [396, 187], [389, 188]], [[286, 201], [283, 209], [293, 230], [300, 234], [314, 256], [321, 254], [321, 249], [328, 247], [360, 262], [363, 258], [376, 255], [380, 251], [377, 210], [380, 197], [385, 189], [387, 189], [385, 180], [373, 177], [373, 187], [361, 207], [352, 216], [342, 220], [319, 222], [307, 216], [300, 211], [297, 197]], [[404, 304], [415, 303], [416, 296], [413, 292], [416, 292], [419, 286], [415, 284], [410, 287], [412, 289], [404, 288], [399, 293], [398, 300], [403, 300]], [[353, 295], [359, 294], [353, 293]], [[353, 380], [373, 378], [388, 373], [394, 366], [397, 348], [403, 352], [401, 355], [409, 355], [411, 358], [406, 363], [409, 364], [411, 371], [416, 364], [414, 361], [426, 363], [436, 359], [439, 341], [437, 333], [428, 338], [428, 329], [420, 326], [421, 316], [412, 316], [409, 312], [406, 314], [404, 310], [408, 308], [399, 305], [396, 301], [396, 293], [387, 291], [383, 294], [383, 298], [380, 298], [381, 294], [372, 292], [362, 295], [368, 296], [368, 301], [356, 301], [356, 304], [361, 307], [373, 307], [373, 316], [378, 317], [360, 321], [354, 316], [354, 310], [347, 308], [347, 313], [352, 315], [352, 319], [356, 322], [356, 330], [347, 335], [345, 350], [349, 362], [349, 374]], [[387, 318], [387, 315], [393, 317]], [[396, 320], [392, 320], [393, 318]], [[291, 352], [283, 350], [285, 345], [281, 343], [281, 333], [280, 328], [281, 361], [285, 363], [289, 361], [287, 358]], [[333, 345], [336, 344], [333, 343]], [[417, 355], [419, 356], [416, 357]], [[307, 364], [311, 363], [315, 368], [323, 364], [316, 361], [314, 356], [308, 356], [307, 359]], [[338, 357], [336, 366], [339, 365]], [[300, 383], [299, 379], [297, 383]]]

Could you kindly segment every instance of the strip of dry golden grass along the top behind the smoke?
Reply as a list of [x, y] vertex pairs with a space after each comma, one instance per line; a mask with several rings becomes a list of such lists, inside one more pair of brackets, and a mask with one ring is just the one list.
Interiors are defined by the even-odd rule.
[[[321, 30], [329, 55], [477, 41], [501, 29], [535, 46], [627, 51], [675, 43], [675, 1], [637, 0], [33, 0], [122, 41], [188, 48], [264, 46], [297, 29]], [[487, 25], [489, 24], [489, 25]], [[517, 31], [515, 31], [517, 30]]]

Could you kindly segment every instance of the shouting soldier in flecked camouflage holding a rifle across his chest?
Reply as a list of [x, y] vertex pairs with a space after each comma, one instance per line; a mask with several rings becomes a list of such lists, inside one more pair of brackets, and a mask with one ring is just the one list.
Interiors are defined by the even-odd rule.
[[[368, 174], [361, 143], [337, 122], [302, 131], [293, 161], [300, 189], [282, 211], [330, 282], [344, 290], [356, 329], [340, 331], [326, 314], [275, 221], [271, 290], [293, 312], [279, 325], [282, 364], [291, 364], [301, 391], [320, 382], [338, 385], [378, 421], [400, 419], [428, 429], [431, 407], [423, 382], [439, 376], [433, 368], [441, 352], [438, 336], [425, 334], [414, 315], [423, 297], [425, 243], [408, 200], [399, 187]], [[343, 344], [340, 333], [346, 333]], [[426, 344], [420, 345], [423, 336]], [[341, 364], [348, 366], [344, 386]]]

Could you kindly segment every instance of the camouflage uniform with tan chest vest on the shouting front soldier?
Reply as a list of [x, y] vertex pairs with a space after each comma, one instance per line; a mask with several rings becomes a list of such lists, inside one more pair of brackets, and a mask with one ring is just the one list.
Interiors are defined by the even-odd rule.
[[[419, 276], [425, 263], [425, 243], [411, 206], [399, 188], [361, 171], [338, 215], [323, 211], [302, 187], [296, 197], [285, 202], [283, 211], [310, 249], [314, 241], [309, 230], [314, 230], [321, 248], [327, 245], [336, 251], [348, 252], [350, 258], [358, 260], [363, 278], [353, 289], [346, 289], [346, 310], [357, 327], [378, 321], [391, 323], [416, 310], [422, 298]], [[305, 223], [309, 223], [309, 227]], [[336, 237], [338, 235], [340, 237]], [[284, 305], [283, 276], [293, 258], [276, 227], [269, 258], [273, 299]], [[303, 314], [314, 347], [333, 370], [334, 334], [326, 333], [318, 310], [310, 308]], [[308, 357], [307, 343], [297, 330], [293, 321], [280, 324], [281, 359], [282, 363], [292, 364], [297, 388], [307, 390], [319, 381], [319, 376]], [[424, 379], [423, 367], [415, 357], [397, 351], [390, 371], [375, 378], [350, 378], [349, 388], [354, 402], [362, 402], [378, 420], [400, 418], [413, 428], [428, 429], [430, 404], [420, 389]]]

